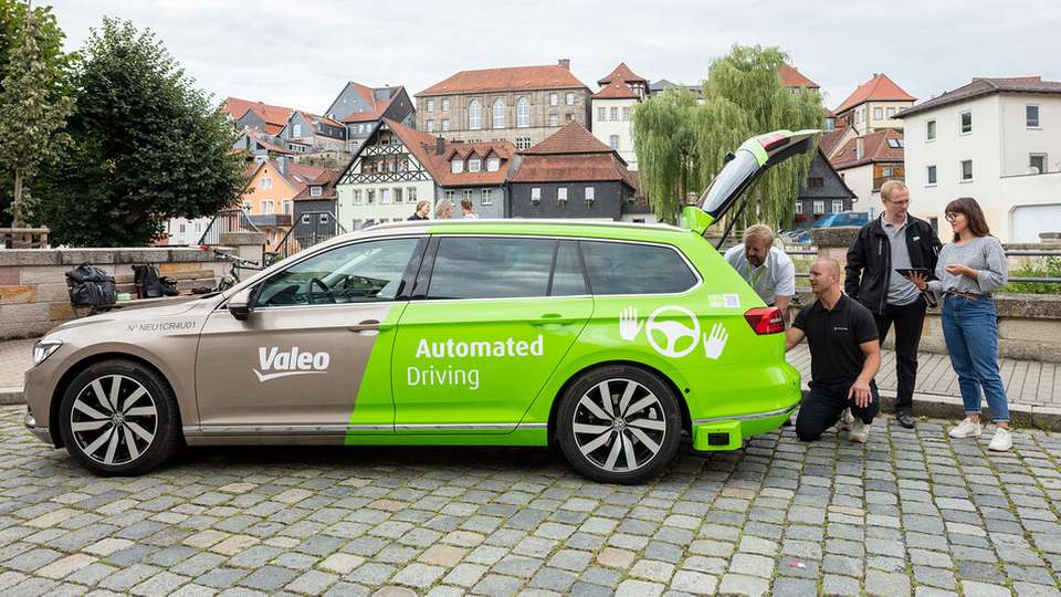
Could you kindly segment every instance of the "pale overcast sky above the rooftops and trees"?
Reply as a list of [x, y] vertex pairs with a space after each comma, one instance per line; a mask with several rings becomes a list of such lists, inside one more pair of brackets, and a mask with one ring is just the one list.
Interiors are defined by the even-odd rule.
[[[40, 0], [39, 0], [40, 1]], [[46, 3], [46, 2], [45, 2]], [[874, 73], [927, 100], [974, 76], [1061, 81], [1061, 2], [61, 0], [70, 50], [103, 17], [150, 28], [198, 85], [322, 113], [346, 81], [410, 95], [462, 70], [555, 64], [591, 90], [619, 62], [700, 83], [734, 43], [778, 45], [837, 107]]]

